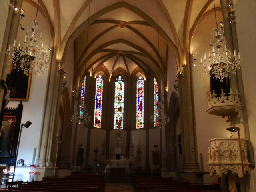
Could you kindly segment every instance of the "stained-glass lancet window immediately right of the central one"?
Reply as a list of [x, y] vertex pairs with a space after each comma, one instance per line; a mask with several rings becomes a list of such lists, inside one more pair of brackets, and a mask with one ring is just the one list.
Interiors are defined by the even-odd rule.
[[137, 79], [137, 125], [136, 129], [144, 128], [144, 80], [141, 76]]

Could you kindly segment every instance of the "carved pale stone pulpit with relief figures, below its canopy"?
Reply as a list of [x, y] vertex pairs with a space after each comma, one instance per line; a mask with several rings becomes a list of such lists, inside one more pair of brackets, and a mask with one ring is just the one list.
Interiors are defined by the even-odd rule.
[[244, 165], [244, 174], [250, 174], [250, 162], [248, 162], [247, 139], [241, 138], [242, 157], [240, 155], [238, 138], [214, 138], [209, 140], [208, 147], [210, 176], [216, 173], [217, 177], [227, 174], [231, 171], [243, 178], [242, 160]]

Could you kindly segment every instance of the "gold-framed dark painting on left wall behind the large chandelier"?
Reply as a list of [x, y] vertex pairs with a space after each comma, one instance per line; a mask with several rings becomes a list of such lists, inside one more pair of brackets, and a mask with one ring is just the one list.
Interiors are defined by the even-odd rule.
[[12, 88], [10, 100], [28, 101], [31, 75], [31, 72], [29, 75], [25, 75], [18, 68], [11, 70], [11, 73], [7, 76], [7, 86]]

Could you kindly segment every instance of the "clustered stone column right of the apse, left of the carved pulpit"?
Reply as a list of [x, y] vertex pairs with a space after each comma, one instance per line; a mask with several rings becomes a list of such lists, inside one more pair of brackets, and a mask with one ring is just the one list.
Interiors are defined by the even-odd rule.
[[180, 126], [182, 137], [183, 171], [200, 171], [196, 143], [196, 127], [194, 122], [193, 92], [190, 66], [184, 67], [184, 76], [178, 74]]

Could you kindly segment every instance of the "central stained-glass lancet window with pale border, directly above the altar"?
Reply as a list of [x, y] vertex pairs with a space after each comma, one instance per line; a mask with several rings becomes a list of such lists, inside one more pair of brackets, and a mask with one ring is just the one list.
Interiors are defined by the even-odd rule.
[[114, 129], [124, 128], [124, 79], [118, 76], [115, 82]]

